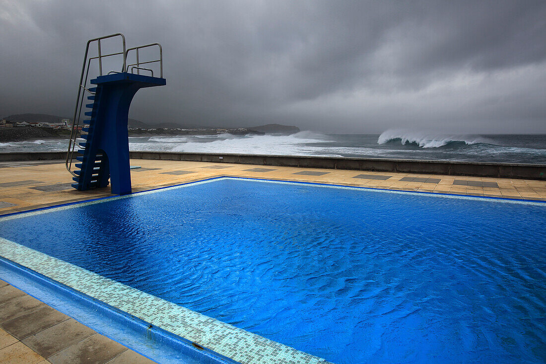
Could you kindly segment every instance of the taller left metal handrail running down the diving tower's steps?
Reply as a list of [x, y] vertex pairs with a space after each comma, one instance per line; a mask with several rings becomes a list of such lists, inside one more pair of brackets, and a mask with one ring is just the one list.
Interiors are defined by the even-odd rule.
[[[121, 37], [122, 44], [123, 44], [123, 51], [108, 54], [108, 55], [102, 55], [101, 51], [100, 51], [100, 40], [108, 39], [108, 38], [114, 38], [114, 37]], [[97, 42], [98, 56], [97, 57], [87, 58], [87, 54], [89, 52], [89, 45], [92, 42]], [[85, 89], [85, 85], [87, 85], [87, 78], [88, 78], [88, 75], [89, 75], [89, 66], [91, 64], [91, 60], [94, 60], [94, 59], [99, 60], [99, 74], [102, 76], [102, 58], [109, 57], [109, 56], [115, 56], [115, 55], [123, 55], [123, 67], [122, 67], [121, 71], [126, 72], [126, 70], [127, 70], [127, 51], [126, 51], [126, 46], [125, 46], [125, 36], [123, 36], [123, 34], [115, 33], [115, 34], [110, 34], [109, 36], [93, 38], [93, 39], [90, 39], [90, 40], [87, 41], [87, 45], [85, 46], [84, 65], [81, 67], [80, 83], [79, 83], [79, 87], [78, 87], [78, 96], [76, 97], [76, 108], [74, 110], [74, 118], [72, 119], [72, 131], [70, 131], [70, 139], [69, 139], [69, 142], [68, 142], [67, 158], [66, 158], [66, 161], [64, 162], [64, 165], [66, 166], [67, 171], [70, 172], [70, 174], [72, 174], [74, 177], [78, 177], [77, 174], [72, 172], [72, 160], [73, 160], [73, 156], [74, 156], [74, 149], [75, 149], [75, 146], [76, 146], [75, 136], [77, 135], [78, 127], [80, 126], [81, 107], [82, 107], [82, 104], [84, 102], [84, 96], [85, 96], [85, 93], [84, 94], [81, 93], [81, 89], [82, 88]], [[86, 64], [85, 64], [86, 61], [87, 61], [87, 67], [86, 67]], [[87, 71], [86, 71], [86, 68], [87, 68]], [[84, 81], [84, 74], [85, 74], [85, 83], [82, 83]], [[87, 90], [87, 89], [85, 89], [85, 90]], [[81, 99], [80, 99], [80, 95], [81, 95]]]

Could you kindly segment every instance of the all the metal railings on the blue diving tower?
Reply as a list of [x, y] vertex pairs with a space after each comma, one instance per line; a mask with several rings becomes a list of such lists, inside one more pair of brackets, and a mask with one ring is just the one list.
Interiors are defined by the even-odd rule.
[[[116, 37], [121, 38], [122, 49], [120, 51], [118, 51], [118, 52], [103, 54], [102, 49], [101, 49], [101, 40], [109, 39], [109, 38], [116, 38]], [[98, 55], [88, 58], [90, 45], [93, 42], [97, 43]], [[157, 60], [140, 62], [139, 50], [144, 49], [144, 48], [149, 48], [149, 47], [152, 47], [152, 46], [158, 46], [158, 48], [159, 48], [159, 58]], [[127, 65], [127, 54], [128, 54], [129, 51], [135, 51], [135, 53], [136, 53], [136, 63], [131, 63], [131, 64]], [[78, 96], [76, 97], [76, 107], [74, 109], [74, 117], [72, 119], [72, 130], [70, 131], [70, 139], [69, 139], [69, 142], [68, 142], [68, 151], [67, 151], [67, 156], [66, 156], [66, 161], [65, 161], [67, 171], [70, 172], [70, 174], [72, 174], [73, 177], [78, 177], [78, 175], [75, 174], [72, 171], [72, 164], [73, 164], [72, 162], [74, 160], [74, 153], [76, 152], [76, 145], [78, 144], [78, 143], [76, 143], [76, 140], [79, 139], [80, 136], [81, 136], [81, 128], [80, 127], [83, 127], [85, 125], [85, 120], [84, 120], [83, 123], [81, 121], [81, 114], [82, 114], [82, 107], [83, 107], [83, 104], [84, 104], [84, 99], [85, 99], [85, 96], [86, 96], [86, 92], [89, 95], [94, 95], [94, 92], [87, 88], [87, 81], [89, 79], [89, 71], [90, 71], [91, 61], [92, 60], [98, 60], [98, 69], [99, 69], [99, 74], [98, 75], [102, 76], [103, 75], [103, 62], [102, 62], [103, 58], [112, 57], [112, 56], [119, 56], [119, 55], [121, 55], [123, 57], [123, 64], [121, 66], [121, 72], [128, 72], [129, 67], [131, 67], [130, 68], [131, 73], [134, 73], [135, 69], [136, 69], [137, 74], [140, 74], [140, 71], [149, 71], [149, 72], [151, 72], [152, 77], [153, 77], [153, 70], [152, 69], [144, 68], [144, 67], [141, 67], [141, 66], [146, 65], [146, 64], [151, 64], [151, 63], [159, 63], [160, 77], [163, 78], [163, 48], [162, 48], [161, 44], [159, 44], [159, 43], [151, 43], [151, 44], [140, 45], [140, 46], [137, 46], [137, 47], [134, 47], [134, 48], [126, 49], [125, 36], [123, 36], [123, 34], [121, 34], [121, 33], [110, 34], [109, 36], [93, 38], [93, 39], [90, 39], [90, 40], [87, 41], [87, 45], [86, 45], [86, 48], [85, 48], [84, 63], [83, 63], [82, 68], [81, 68], [80, 83], [78, 85]], [[110, 74], [110, 73], [119, 73], [119, 72], [120, 71], [109, 71], [108, 74]]]

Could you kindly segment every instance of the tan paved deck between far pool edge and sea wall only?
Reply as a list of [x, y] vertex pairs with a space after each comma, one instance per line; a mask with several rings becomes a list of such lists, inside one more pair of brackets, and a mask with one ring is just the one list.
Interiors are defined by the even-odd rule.
[[[133, 192], [219, 176], [546, 201], [546, 181], [436, 174], [310, 169], [230, 163], [131, 160]], [[110, 187], [76, 191], [61, 161], [0, 162], [0, 215], [112, 196]]]

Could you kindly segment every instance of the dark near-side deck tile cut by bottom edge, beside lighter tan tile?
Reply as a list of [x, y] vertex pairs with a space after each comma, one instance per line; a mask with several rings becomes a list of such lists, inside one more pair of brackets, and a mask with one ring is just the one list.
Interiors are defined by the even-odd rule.
[[46, 359], [52, 364], [104, 364], [127, 350], [101, 334], [94, 334]]

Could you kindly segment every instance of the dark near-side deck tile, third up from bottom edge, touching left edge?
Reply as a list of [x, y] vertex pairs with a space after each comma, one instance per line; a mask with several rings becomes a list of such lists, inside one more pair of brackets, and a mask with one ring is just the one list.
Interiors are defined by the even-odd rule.
[[17, 339], [22, 340], [68, 319], [67, 315], [58, 312], [54, 308], [45, 306], [34, 312], [19, 316], [16, 319], [3, 322], [0, 326]]

